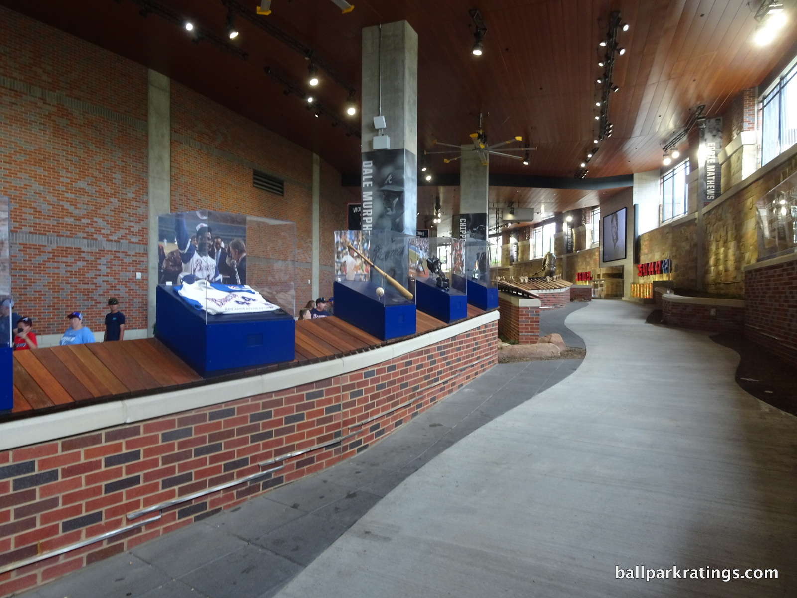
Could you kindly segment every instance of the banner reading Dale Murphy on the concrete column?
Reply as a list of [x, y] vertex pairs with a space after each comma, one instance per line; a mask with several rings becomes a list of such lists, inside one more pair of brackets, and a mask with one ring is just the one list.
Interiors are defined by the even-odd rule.
[[362, 155], [363, 230], [393, 230], [415, 236], [418, 173], [415, 155], [404, 148]]

